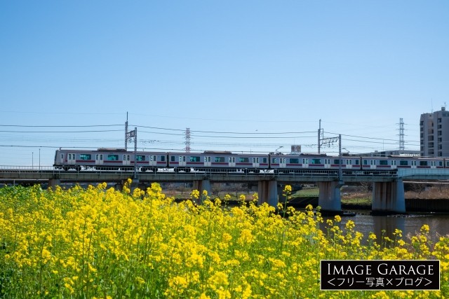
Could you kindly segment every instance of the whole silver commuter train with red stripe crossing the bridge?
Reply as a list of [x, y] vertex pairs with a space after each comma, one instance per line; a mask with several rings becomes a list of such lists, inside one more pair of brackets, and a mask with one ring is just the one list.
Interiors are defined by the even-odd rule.
[[[135, 157], [134, 157], [135, 155]], [[203, 153], [126, 151], [122, 148], [98, 148], [97, 151], [59, 149], [55, 153], [55, 169], [122, 170], [157, 172], [173, 169], [174, 172], [191, 171], [239, 171], [300, 173], [304, 170], [330, 172], [395, 171], [398, 168], [449, 168], [449, 158], [423, 158], [410, 156], [365, 157], [357, 155], [338, 156], [326, 154], [282, 153], [231, 153], [228, 151], [205, 151]], [[341, 165], [341, 166], [340, 166]]]

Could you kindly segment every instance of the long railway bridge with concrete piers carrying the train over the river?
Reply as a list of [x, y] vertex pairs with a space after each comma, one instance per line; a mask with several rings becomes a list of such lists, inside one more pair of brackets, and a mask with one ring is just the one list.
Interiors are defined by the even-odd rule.
[[57, 186], [60, 183], [116, 183], [123, 186], [127, 179], [138, 181], [139, 186], [149, 186], [153, 182], [193, 182], [194, 189], [207, 190], [210, 194], [211, 183], [250, 183], [257, 184], [259, 204], [267, 202], [276, 207], [279, 201], [280, 184], [314, 183], [319, 186], [319, 206], [322, 211], [339, 212], [342, 210], [340, 187], [345, 183], [373, 183], [373, 205], [375, 213], [401, 214], [406, 212], [404, 198], [404, 180], [435, 181], [448, 180], [449, 169], [397, 169], [394, 171], [343, 172], [335, 173], [323, 170], [279, 174], [274, 172], [140, 172], [138, 179], [133, 172], [116, 170], [64, 171], [53, 167], [0, 167], [0, 183], [48, 183]]

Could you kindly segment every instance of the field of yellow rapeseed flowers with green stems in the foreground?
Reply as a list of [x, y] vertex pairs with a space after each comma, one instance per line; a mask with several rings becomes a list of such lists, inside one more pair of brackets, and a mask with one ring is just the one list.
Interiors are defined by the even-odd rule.
[[[175, 203], [156, 183], [129, 184], [1, 188], [0, 298], [449, 297], [449, 239], [429, 244], [428, 225], [408, 242], [396, 230], [363, 245], [354, 222], [323, 223], [311, 207], [280, 206], [283, 218], [267, 204], [222, 207], [196, 190]], [[323, 259], [439, 259], [441, 291], [320, 291]]]

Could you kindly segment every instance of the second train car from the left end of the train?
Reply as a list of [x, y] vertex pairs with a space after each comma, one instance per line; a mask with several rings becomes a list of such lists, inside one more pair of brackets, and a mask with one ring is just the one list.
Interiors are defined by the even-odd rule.
[[204, 153], [168, 153], [168, 167], [175, 172], [220, 171], [223, 169], [260, 172], [268, 169], [268, 155], [235, 154], [227, 151], [205, 151]]

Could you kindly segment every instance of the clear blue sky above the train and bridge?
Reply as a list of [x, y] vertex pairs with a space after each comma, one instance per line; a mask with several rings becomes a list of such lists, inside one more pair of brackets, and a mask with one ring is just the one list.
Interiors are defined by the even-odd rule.
[[[449, 1], [0, 1], [0, 165], [57, 148], [420, 148], [449, 102]], [[133, 144], [129, 145], [133, 148]], [[322, 148], [336, 154], [337, 144]]]

